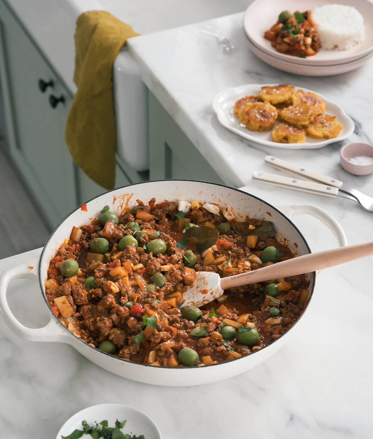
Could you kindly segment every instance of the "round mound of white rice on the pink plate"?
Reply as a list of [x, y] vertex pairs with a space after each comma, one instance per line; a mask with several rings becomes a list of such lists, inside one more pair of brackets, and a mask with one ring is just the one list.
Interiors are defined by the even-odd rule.
[[323, 49], [346, 50], [364, 40], [364, 19], [353, 6], [326, 4], [316, 7], [312, 18]]

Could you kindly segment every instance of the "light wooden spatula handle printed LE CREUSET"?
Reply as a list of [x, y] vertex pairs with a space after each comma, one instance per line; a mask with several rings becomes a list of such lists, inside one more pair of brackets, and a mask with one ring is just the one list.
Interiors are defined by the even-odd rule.
[[311, 273], [336, 265], [344, 264], [355, 259], [364, 258], [373, 254], [373, 241], [364, 244], [348, 245], [346, 247], [333, 248], [323, 252], [311, 253], [310, 255], [298, 256], [258, 270], [247, 273], [235, 274], [221, 279], [221, 288], [239, 287], [255, 282], [269, 281], [279, 277], [296, 276], [297, 274]]

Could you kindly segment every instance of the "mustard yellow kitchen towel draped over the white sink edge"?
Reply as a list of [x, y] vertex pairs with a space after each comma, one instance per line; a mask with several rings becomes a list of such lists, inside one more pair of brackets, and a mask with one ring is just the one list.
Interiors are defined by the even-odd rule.
[[65, 141], [80, 169], [106, 189], [112, 189], [115, 181], [112, 65], [127, 39], [137, 35], [107, 11], [84, 12], [76, 20], [74, 82], [78, 90]]

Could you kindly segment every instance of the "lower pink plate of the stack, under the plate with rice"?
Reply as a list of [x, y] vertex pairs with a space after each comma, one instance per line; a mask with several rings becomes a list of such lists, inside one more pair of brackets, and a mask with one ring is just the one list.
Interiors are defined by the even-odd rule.
[[361, 67], [373, 55], [373, 51], [371, 51], [355, 61], [335, 65], [301, 65], [294, 64], [291, 61], [275, 58], [271, 54], [258, 49], [248, 38], [246, 38], [246, 43], [253, 53], [265, 63], [272, 65], [272, 67], [278, 68], [279, 70], [283, 70], [284, 72], [303, 76], [331, 76], [351, 72], [351, 70]]

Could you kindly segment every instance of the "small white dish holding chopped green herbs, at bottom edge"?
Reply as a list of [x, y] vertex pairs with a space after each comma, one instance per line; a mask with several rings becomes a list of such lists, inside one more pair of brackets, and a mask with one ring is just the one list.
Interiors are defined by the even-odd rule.
[[[115, 421], [126, 424], [120, 430], [123, 434], [140, 436], [144, 435], [145, 439], [162, 439], [158, 427], [140, 410], [128, 407], [123, 404], [98, 404], [97, 406], [87, 407], [80, 412], [72, 415], [58, 432], [56, 439], [61, 436], [68, 436], [74, 430], [83, 430], [82, 421], [87, 421], [88, 425], [96, 426], [101, 421], [108, 421], [109, 427], [115, 427]], [[82, 438], [91, 438], [91, 435], [83, 434]]]

